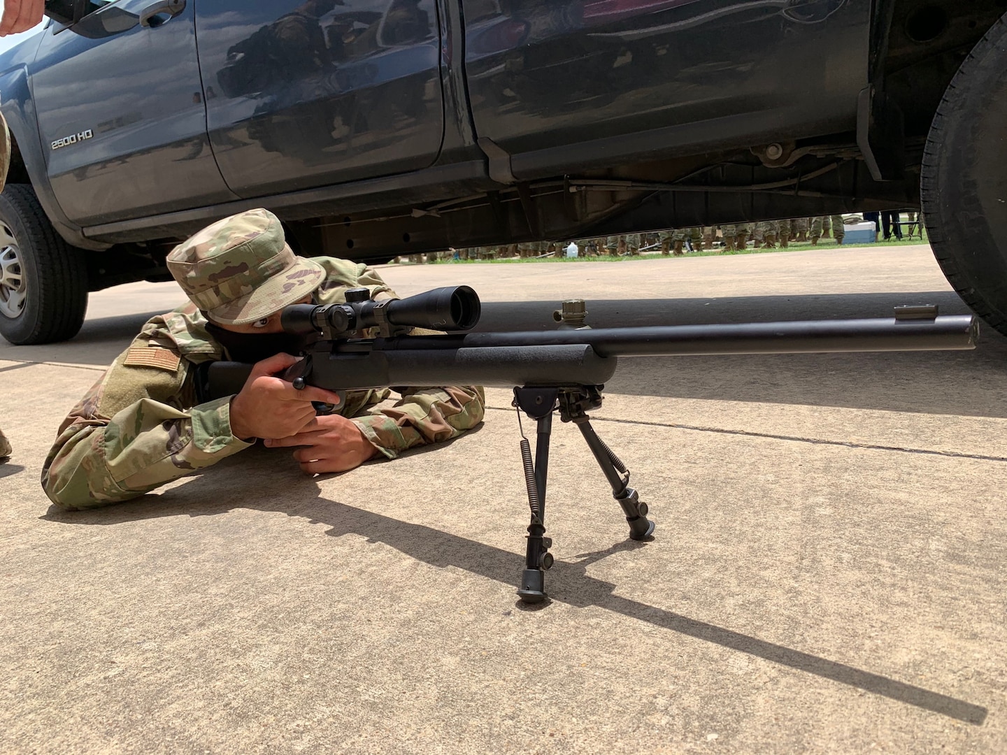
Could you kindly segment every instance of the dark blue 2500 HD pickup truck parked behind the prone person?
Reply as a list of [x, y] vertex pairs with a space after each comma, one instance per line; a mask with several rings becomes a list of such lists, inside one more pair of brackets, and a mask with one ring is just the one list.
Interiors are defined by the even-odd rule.
[[0, 55], [0, 333], [265, 206], [395, 255], [925, 211], [1007, 332], [1007, 0], [50, 0]]

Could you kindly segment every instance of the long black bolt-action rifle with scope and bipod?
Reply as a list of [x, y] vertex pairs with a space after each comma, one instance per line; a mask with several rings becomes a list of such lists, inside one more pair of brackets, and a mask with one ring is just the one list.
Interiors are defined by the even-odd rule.
[[[532, 523], [518, 593], [527, 602], [545, 599], [544, 571], [552, 566], [543, 522], [554, 413], [581, 431], [626, 515], [629, 537], [646, 540], [654, 532], [646, 504], [628, 486], [628, 469], [597, 437], [587, 415], [601, 406], [603, 384], [619, 357], [955, 350], [974, 348], [979, 334], [975, 317], [938, 316], [937, 307], [922, 306], [896, 307], [890, 318], [408, 335], [403, 333], [414, 326], [470, 329], [478, 321], [478, 297], [465, 286], [384, 302], [369, 296], [367, 289], [350, 289], [346, 304], [287, 307], [284, 329], [307, 342], [305, 358], [284, 379], [336, 393], [397, 386], [514, 388], [514, 405], [538, 422], [534, 462], [522, 440]], [[579, 324], [583, 310], [577, 311], [579, 317], [563, 319]], [[380, 335], [354, 337], [365, 327], [377, 327]], [[200, 399], [239, 393], [251, 369], [239, 362], [209, 363], [200, 372]]]

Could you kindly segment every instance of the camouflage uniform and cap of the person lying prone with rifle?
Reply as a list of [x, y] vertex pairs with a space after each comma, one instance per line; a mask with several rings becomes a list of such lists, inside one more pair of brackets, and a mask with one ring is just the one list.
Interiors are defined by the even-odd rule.
[[[279, 220], [254, 209], [220, 220], [175, 247], [168, 268], [190, 301], [152, 317], [132, 344], [59, 427], [42, 468], [46, 495], [65, 508], [128, 500], [210, 466], [252, 442], [231, 431], [234, 397], [196, 404], [195, 365], [225, 356], [206, 330], [214, 322], [255, 322], [311, 294], [344, 301], [347, 288], [392, 295], [363, 264], [295, 257]], [[337, 411], [388, 458], [453, 438], [478, 424], [476, 387], [400, 388], [394, 407], [378, 407], [387, 389], [350, 391]]]

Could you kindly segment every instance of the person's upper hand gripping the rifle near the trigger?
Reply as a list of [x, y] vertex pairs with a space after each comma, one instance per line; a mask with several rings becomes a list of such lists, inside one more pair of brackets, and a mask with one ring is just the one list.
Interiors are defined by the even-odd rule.
[[236, 438], [286, 438], [314, 426], [311, 402], [339, 403], [331, 391], [314, 386], [298, 391], [277, 376], [298, 358], [281, 353], [252, 367], [241, 392], [231, 400], [231, 432]]

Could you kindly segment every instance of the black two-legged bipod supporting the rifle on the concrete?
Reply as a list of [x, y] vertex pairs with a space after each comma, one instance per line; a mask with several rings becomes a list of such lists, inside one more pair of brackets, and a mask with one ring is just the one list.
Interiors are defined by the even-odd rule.
[[629, 524], [631, 540], [646, 540], [654, 533], [654, 522], [646, 518], [648, 506], [639, 499], [635, 489], [629, 487], [629, 470], [591, 427], [587, 412], [601, 406], [601, 386], [576, 386], [572, 388], [543, 387], [516, 388], [513, 406], [538, 422], [535, 444], [535, 461], [532, 461], [531, 443], [521, 430], [521, 456], [525, 467], [525, 484], [528, 487], [528, 504], [532, 509], [532, 522], [528, 525], [528, 551], [525, 571], [521, 575], [518, 595], [526, 603], [541, 603], [546, 599], [545, 575], [553, 565], [549, 549], [553, 545], [546, 535], [546, 479], [549, 474], [549, 439], [553, 429], [553, 413], [559, 412], [560, 420], [572, 422], [584, 436], [588, 448], [612, 488], [612, 497], [618, 501]]

